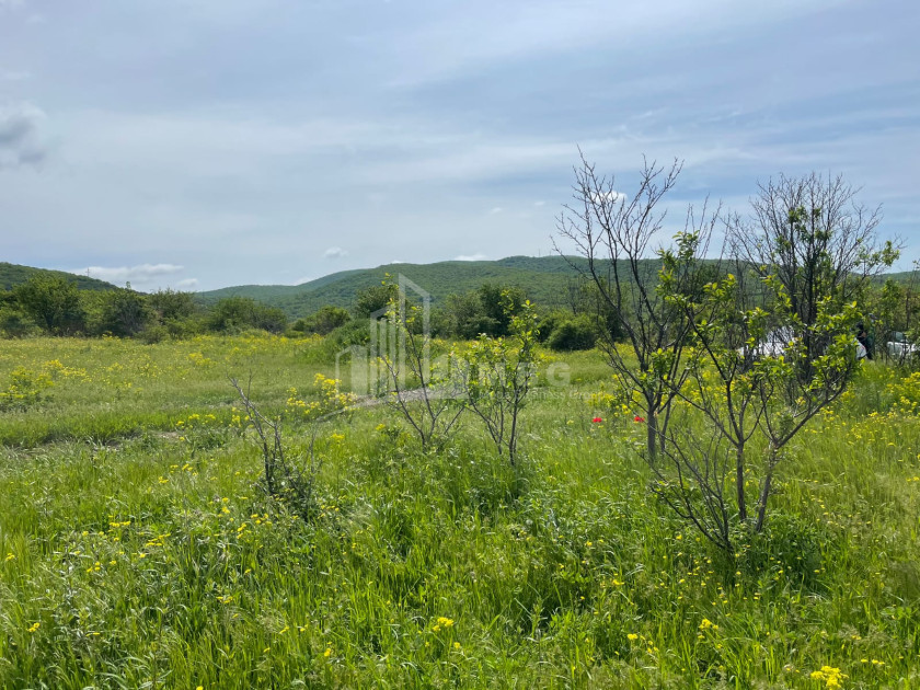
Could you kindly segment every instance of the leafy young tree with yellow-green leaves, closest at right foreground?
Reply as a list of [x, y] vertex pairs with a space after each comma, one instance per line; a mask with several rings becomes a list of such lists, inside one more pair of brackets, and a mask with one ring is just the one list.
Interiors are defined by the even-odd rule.
[[[693, 241], [688, 235], [679, 244]], [[669, 253], [664, 260], [666, 266], [676, 261]], [[858, 367], [852, 329], [860, 319], [855, 302], [825, 295], [805, 324], [782, 279], [758, 278], [761, 290], [755, 291], [741, 257], [734, 271], [699, 291], [663, 281], [666, 299], [691, 324], [688, 376], [675, 394], [702, 416], [704, 430], [695, 430], [692, 415], [682, 417], [663, 447], [667, 462], [653, 468], [654, 491], [728, 553], [736, 525], [763, 528], [774, 473], [792, 456], [792, 440], [847, 389]], [[820, 355], [809, 349], [814, 343], [823, 344]], [[751, 476], [759, 486], [752, 510]]]

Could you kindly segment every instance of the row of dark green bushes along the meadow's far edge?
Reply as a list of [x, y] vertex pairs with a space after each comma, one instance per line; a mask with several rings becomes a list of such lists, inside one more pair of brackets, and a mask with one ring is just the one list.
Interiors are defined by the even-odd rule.
[[[249, 297], [203, 303], [192, 292], [172, 289], [151, 294], [130, 286], [81, 290], [66, 277], [43, 273], [0, 291], [0, 333], [7, 337], [110, 335], [159, 342], [199, 333], [261, 330], [294, 337], [340, 332], [340, 340], [360, 342], [369, 333], [369, 318], [387, 310], [394, 290], [392, 285], [372, 286], [357, 292], [352, 309], [326, 306], [291, 321], [281, 309]], [[524, 289], [497, 283], [452, 295], [435, 307], [432, 334], [452, 340], [505, 336], [527, 298]], [[613, 323], [610, 315], [605, 315], [596, 291], [584, 280], [570, 290], [567, 302], [566, 310], [541, 313], [541, 341], [563, 350], [594, 347], [600, 333], [598, 318]]]

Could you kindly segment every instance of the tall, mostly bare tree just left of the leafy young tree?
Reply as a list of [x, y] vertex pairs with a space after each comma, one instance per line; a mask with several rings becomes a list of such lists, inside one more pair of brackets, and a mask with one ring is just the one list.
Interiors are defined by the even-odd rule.
[[[677, 160], [667, 170], [646, 161], [639, 188], [628, 197], [617, 189], [613, 176], [598, 174], [582, 154], [580, 166], [575, 169], [574, 203], [564, 207], [557, 221], [559, 234], [587, 258], [587, 268], [570, 264], [597, 288], [607, 312], [599, 320], [606, 326], [600, 329], [601, 347], [624, 396], [632, 400], [636, 394], [642, 400], [653, 462], [665, 441], [674, 383], [683, 377], [681, 354], [690, 329], [683, 310], [659, 292], [663, 276], [649, 261], [656, 254], [652, 242], [664, 227], [665, 212], [658, 205], [680, 170]], [[675, 254], [668, 279], [682, 286], [678, 289], [689, 289], [697, 281], [712, 222], [705, 209], [700, 218], [688, 214], [687, 223], [697, 226], [701, 241], [691, 253]], [[557, 245], [556, 251], [564, 256]]]

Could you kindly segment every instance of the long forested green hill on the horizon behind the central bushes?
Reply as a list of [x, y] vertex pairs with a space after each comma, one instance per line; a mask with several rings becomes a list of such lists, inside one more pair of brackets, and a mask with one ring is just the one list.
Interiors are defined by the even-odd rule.
[[[582, 258], [571, 258], [580, 262]], [[649, 262], [657, 265], [657, 262]], [[252, 297], [300, 318], [331, 304], [350, 308], [361, 289], [380, 285], [387, 274], [400, 274], [432, 294], [435, 302], [463, 294], [484, 283], [524, 288], [543, 306], [563, 306], [568, 285], [578, 274], [562, 256], [509, 256], [499, 261], [445, 261], [435, 264], [387, 264], [376, 268], [343, 271], [301, 285], [243, 285], [200, 292], [207, 302], [222, 297]]]

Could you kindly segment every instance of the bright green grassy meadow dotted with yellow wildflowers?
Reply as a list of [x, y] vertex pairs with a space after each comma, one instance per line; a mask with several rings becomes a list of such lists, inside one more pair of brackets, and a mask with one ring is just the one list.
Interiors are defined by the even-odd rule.
[[725, 556], [648, 492], [600, 354], [561, 359], [517, 467], [361, 406], [301, 516], [228, 376], [306, 453], [321, 338], [0, 343], [0, 688], [920, 687], [920, 376], [865, 363]]

